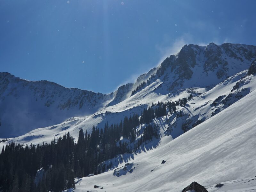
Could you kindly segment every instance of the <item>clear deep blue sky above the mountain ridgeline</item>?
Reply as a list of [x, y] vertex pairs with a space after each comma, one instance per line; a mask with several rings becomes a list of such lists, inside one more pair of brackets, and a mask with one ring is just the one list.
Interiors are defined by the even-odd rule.
[[255, 0], [1, 0], [0, 71], [109, 93], [183, 44], [256, 45]]

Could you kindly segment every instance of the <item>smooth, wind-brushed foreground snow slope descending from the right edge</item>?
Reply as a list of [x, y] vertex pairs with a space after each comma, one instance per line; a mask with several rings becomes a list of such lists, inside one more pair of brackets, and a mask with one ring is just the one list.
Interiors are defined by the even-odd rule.
[[[212, 186], [253, 177], [256, 172], [255, 113], [254, 90], [175, 140], [164, 136], [158, 148], [134, 156], [128, 161], [137, 167], [132, 173], [117, 177], [111, 170], [84, 177], [76, 184], [75, 191], [90, 191], [93, 185], [99, 185], [104, 191], [112, 192], [178, 192], [193, 181]], [[166, 162], [161, 164], [162, 160]], [[209, 187], [209, 191], [246, 191], [231, 187], [229, 190], [226, 186], [223, 190]], [[246, 187], [255, 189], [255, 183]]]

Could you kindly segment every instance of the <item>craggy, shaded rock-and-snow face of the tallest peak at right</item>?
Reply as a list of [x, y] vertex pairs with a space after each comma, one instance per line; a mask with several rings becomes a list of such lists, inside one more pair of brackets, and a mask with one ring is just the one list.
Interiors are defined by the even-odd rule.
[[207, 87], [248, 69], [256, 58], [256, 46], [210, 43], [202, 47], [185, 45], [177, 55], [166, 58], [148, 84], [160, 79], [156, 92], [168, 94], [180, 89]]

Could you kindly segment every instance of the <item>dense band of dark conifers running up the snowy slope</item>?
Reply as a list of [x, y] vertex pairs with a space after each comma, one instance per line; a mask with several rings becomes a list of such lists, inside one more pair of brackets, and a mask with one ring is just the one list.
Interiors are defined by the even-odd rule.
[[[185, 106], [187, 99], [158, 102], [144, 109], [139, 115], [125, 116], [119, 123], [104, 128], [92, 127], [91, 133], [80, 128], [78, 140], [69, 132], [50, 143], [21, 145], [7, 144], [0, 153], [0, 191], [6, 192], [60, 192], [74, 188], [74, 178], [88, 174], [99, 174], [109, 167], [98, 165], [119, 154], [132, 153], [153, 137], [158, 138], [158, 128], [150, 124], [155, 117], [176, 111], [176, 106]], [[142, 134], [136, 131], [140, 124], [146, 124]], [[139, 138], [140, 139], [137, 139]], [[121, 138], [126, 138], [124, 142]], [[39, 169], [43, 174], [35, 182]]]

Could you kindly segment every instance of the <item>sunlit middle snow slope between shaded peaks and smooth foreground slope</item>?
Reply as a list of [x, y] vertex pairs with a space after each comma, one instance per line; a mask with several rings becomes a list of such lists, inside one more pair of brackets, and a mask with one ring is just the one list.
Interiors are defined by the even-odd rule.
[[[255, 90], [256, 77], [254, 75], [246, 75], [247, 71], [248, 70], [245, 70], [229, 77], [209, 91], [205, 91], [202, 88], [195, 88], [194, 90], [201, 90], [201, 92], [204, 93], [188, 100], [185, 107], [179, 107], [177, 109], [177, 113], [181, 112], [183, 114], [182, 116], [178, 117], [175, 113], [168, 114], [167, 116], [155, 119], [154, 123], [163, 130], [162, 135], [171, 135], [173, 139], [180, 136], [184, 131], [188, 131], [196, 126], [196, 124], [211, 118], [218, 112], [227, 108], [230, 104], [235, 103], [249, 92]], [[88, 131], [91, 131], [93, 125], [103, 128], [107, 122], [108, 124], [119, 123], [124, 116], [129, 116], [135, 112], [140, 114], [141, 110], [148, 106], [145, 103], [150, 104], [158, 100], [177, 100], [187, 97], [189, 94], [185, 90], [180, 92], [179, 95], [173, 95], [172, 97], [166, 95], [156, 96], [151, 90], [155, 89], [157, 83], [161, 82], [155, 82], [119, 104], [103, 108], [92, 116], [69, 118], [61, 124], [35, 129], [25, 135], [12, 138], [6, 142], [15, 141], [24, 144], [50, 142], [54, 137], [58, 138], [65, 132], [70, 132], [72, 136], [77, 138], [81, 127]], [[233, 87], [238, 83], [239, 87], [233, 90]], [[139, 129], [140, 127], [138, 130]], [[0, 143], [0, 147], [5, 145], [6, 142]]]

